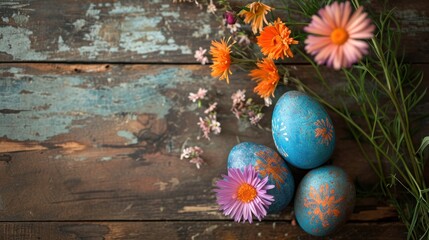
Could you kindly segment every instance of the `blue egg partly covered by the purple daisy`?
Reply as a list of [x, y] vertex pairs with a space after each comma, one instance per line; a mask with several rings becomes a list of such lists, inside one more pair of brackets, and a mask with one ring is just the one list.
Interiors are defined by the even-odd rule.
[[279, 213], [292, 200], [295, 182], [286, 162], [273, 149], [262, 144], [243, 142], [234, 146], [228, 156], [228, 168], [240, 168], [251, 164], [260, 178], [268, 176], [268, 184], [274, 185], [268, 194], [274, 196], [269, 213]]

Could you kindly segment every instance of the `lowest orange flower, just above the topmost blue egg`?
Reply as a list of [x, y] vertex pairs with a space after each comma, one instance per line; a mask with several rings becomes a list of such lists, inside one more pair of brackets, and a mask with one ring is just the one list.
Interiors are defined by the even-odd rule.
[[249, 76], [252, 80], [258, 82], [254, 91], [262, 98], [274, 96], [274, 90], [280, 80], [279, 72], [274, 61], [270, 58], [264, 58], [256, 64], [257, 69], [250, 71]]

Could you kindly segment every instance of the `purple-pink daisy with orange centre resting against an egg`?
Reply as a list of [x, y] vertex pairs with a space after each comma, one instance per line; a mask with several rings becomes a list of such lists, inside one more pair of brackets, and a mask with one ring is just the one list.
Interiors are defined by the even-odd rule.
[[222, 177], [214, 191], [220, 210], [226, 216], [236, 222], [243, 219], [243, 222], [252, 223], [252, 215], [259, 221], [267, 215], [267, 208], [274, 201], [274, 197], [267, 193], [274, 188], [274, 185], [267, 185], [268, 177], [261, 180], [252, 165], [245, 167], [244, 171], [230, 168], [228, 176]]

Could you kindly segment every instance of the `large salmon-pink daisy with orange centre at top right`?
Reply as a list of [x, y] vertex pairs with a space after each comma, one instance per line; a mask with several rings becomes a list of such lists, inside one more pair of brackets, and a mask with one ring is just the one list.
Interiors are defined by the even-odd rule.
[[352, 14], [350, 2], [334, 2], [320, 9], [304, 28], [313, 34], [305, 40], [305, 50], [315, 55], [318, 64], [326, 63], [337, 70], [350, 67], [368, 53], [368, 43], [363, 39], [372, 38], [374, 29], [363, 7]]

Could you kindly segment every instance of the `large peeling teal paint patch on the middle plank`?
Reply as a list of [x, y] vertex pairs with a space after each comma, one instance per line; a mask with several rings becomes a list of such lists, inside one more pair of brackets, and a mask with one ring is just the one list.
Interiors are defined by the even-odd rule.
[[[20, 68], [0, 72], [14, 75], [0, 81], [0, 109], [20, 110], [0, 114], [0, 137], [18, 141], [45, 141], [68, 133], [76, 126], [75, 120], [112, 117], [121, 112], [163, 118], [175, 103], [160, 90], [196, 81], [192, 71], [183, 68], [168, 68], [156, 74], [146, 71], [138, 79], [103, 88], [94, 87], [94, 76], [30, 75]], [[110, 77], [119, 81], [115, 80], [118, 76]]]

